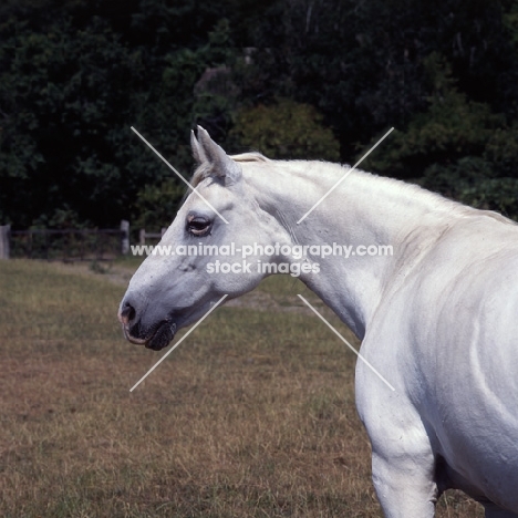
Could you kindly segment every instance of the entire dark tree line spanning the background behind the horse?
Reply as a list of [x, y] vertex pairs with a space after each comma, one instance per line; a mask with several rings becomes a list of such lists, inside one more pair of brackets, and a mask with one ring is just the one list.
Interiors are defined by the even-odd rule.
[[4, 0], [0, 222], [160, 227], [189, 131], [518, 219], [518, 1]]

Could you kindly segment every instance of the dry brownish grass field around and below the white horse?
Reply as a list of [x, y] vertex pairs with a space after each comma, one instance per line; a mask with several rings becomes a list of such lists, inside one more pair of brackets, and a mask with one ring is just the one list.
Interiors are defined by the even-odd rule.
[[[219, 308], [130, 393], [159, 353], [122, 338], [123, 283], [0, 262], [0, 516], [381, 517], [355, 358], [301, 289]], [[438, 516], [483, 514], [450, 491]]]

